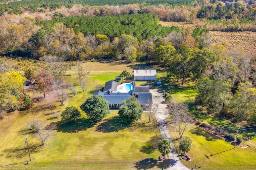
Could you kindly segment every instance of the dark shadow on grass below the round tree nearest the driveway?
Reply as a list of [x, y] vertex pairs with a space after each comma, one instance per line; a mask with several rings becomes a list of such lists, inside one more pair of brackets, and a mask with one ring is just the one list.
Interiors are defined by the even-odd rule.
[[119, 116], [104, 119], [103, 123], [100, 123], [96, 131], [100, 132], [117, 132], [118, 130], [130, 127], [130, 123], [123, 122]]

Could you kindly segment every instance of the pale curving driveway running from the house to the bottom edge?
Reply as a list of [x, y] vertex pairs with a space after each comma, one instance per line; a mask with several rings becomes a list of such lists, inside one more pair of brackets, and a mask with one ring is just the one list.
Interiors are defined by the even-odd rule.
[[167, 105], [164, 103], [165, 99], [163, 93], [161, 91], [158, 91], [157, 89], [150, 90], [150, 93], [152, 93], [153, 100], [152, 109], [155, 113], [156, 121], [160, 128], [162, 137], [168, 139], [172, 145], [172, 152], [169, 153], [170, 166], [168, 167], [168, 170], [189, 170], [180, 162], [177, 151], [172, 142], [169, 130], [166, 126], [166, 119], [169, 113], [168, 109], [166, 109]]

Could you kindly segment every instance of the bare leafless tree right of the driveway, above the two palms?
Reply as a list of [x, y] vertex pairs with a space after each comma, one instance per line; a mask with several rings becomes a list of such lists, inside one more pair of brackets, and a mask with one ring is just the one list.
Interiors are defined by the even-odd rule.
[[192, 121], [190, 115], [187, 114], [188, 105], [185, 105], [184, 103], [177, 103], [174, 100], [168, 101], [167, 104], [169, 106], [170, 113], [172, 114], [172, 120], [176, 124], [180, 138], [182, 138], [186, 127]]

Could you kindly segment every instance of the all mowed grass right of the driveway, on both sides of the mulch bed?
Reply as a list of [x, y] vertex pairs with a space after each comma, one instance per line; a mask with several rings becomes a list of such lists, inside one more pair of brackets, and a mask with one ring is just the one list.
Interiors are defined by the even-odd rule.
[[[203, 108], [196, 107], [194, 98], [197, 91], [194, 88], [194, 83], [186, 81], [184, 85], [174, 83], [172, 81], [169, 85], [173, 88], [172, 96], [176, 101], [188, 104], [189, 112], [192, 116], [206, 123], [215, 125], [224, 125], [230, 123], [228, 120], [216, 119], [209, 115]], [[256, 151], [252, 147], [240, 148], [226, 142], [224, 139], [211, 134], [193, 124], [190, 124], [184, 132], [182, 139], [179, 138], [177, 128], [171, 124], [171, 116], [168, 117], [167, 122], [169, 132], [174, 139], [174, 146], [179, 150], [181, 140], [188, 139], [191, 141], [191, 150], [187, 153], [191, 157], [191, 161], [182, 160], [182, 163], [188, 168], [202, 169], [202, 170], [254, 170], [256, 169]], [[249, 140], [251, 143], [254, 140]], [[180, 151], [178, 152], [180, 153]], [[197, 168], [194, 168], [197, 165]], [[199, 168], [201, 166], [202, 168]]]

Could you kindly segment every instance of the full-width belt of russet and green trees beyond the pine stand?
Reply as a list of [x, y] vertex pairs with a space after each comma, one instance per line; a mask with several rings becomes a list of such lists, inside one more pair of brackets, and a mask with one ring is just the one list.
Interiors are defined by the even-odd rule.
[[[30, 1], [18, 1], [30, 2]], [[32, 1], [31, 1], [32, 2]], [[157, 2], [157, 1], [156, 1]], [[256, 31], [255, 23], [255, 7], [256, 3], [250, 1], [248, 4], [243, 4], [241, 1], [224, 4], [219, 1], [198, 1], [196, 4], [122, 4], [120, 6], [113, 5], [99, 5], [89, 6], [72, 4], [68, 7], [37, 7], [32, 11], [29, 8], [16, 7], [10, 10], [10, 13], [16, 13], [24, 16], [30, 15], [33, 20], [46, 21], [52, 18], [59, 18], [65, 16], [118, 16], [123, 14], [137, 14], [137, 13], [151, 13], [156, 14], [162, 21], [174, 22], [189, 22], [200, 28], [205, 28], [210, 31]], [[194, 1], [188, 1], [194, 2]], [[10, 4], [10, 3], [9, 3]], [[64, 5], [64, 3], [62, 3]], [[1, 7], [1, 6], [0, 6]], [[2, 7], [4, 8], [4, 7]], [[3, 10], [2, 17], [7, 22], [10, 22], [10, 14], [7, 13], [9, 8]], [[1, 17], [0, 17], [1, 20]]]

